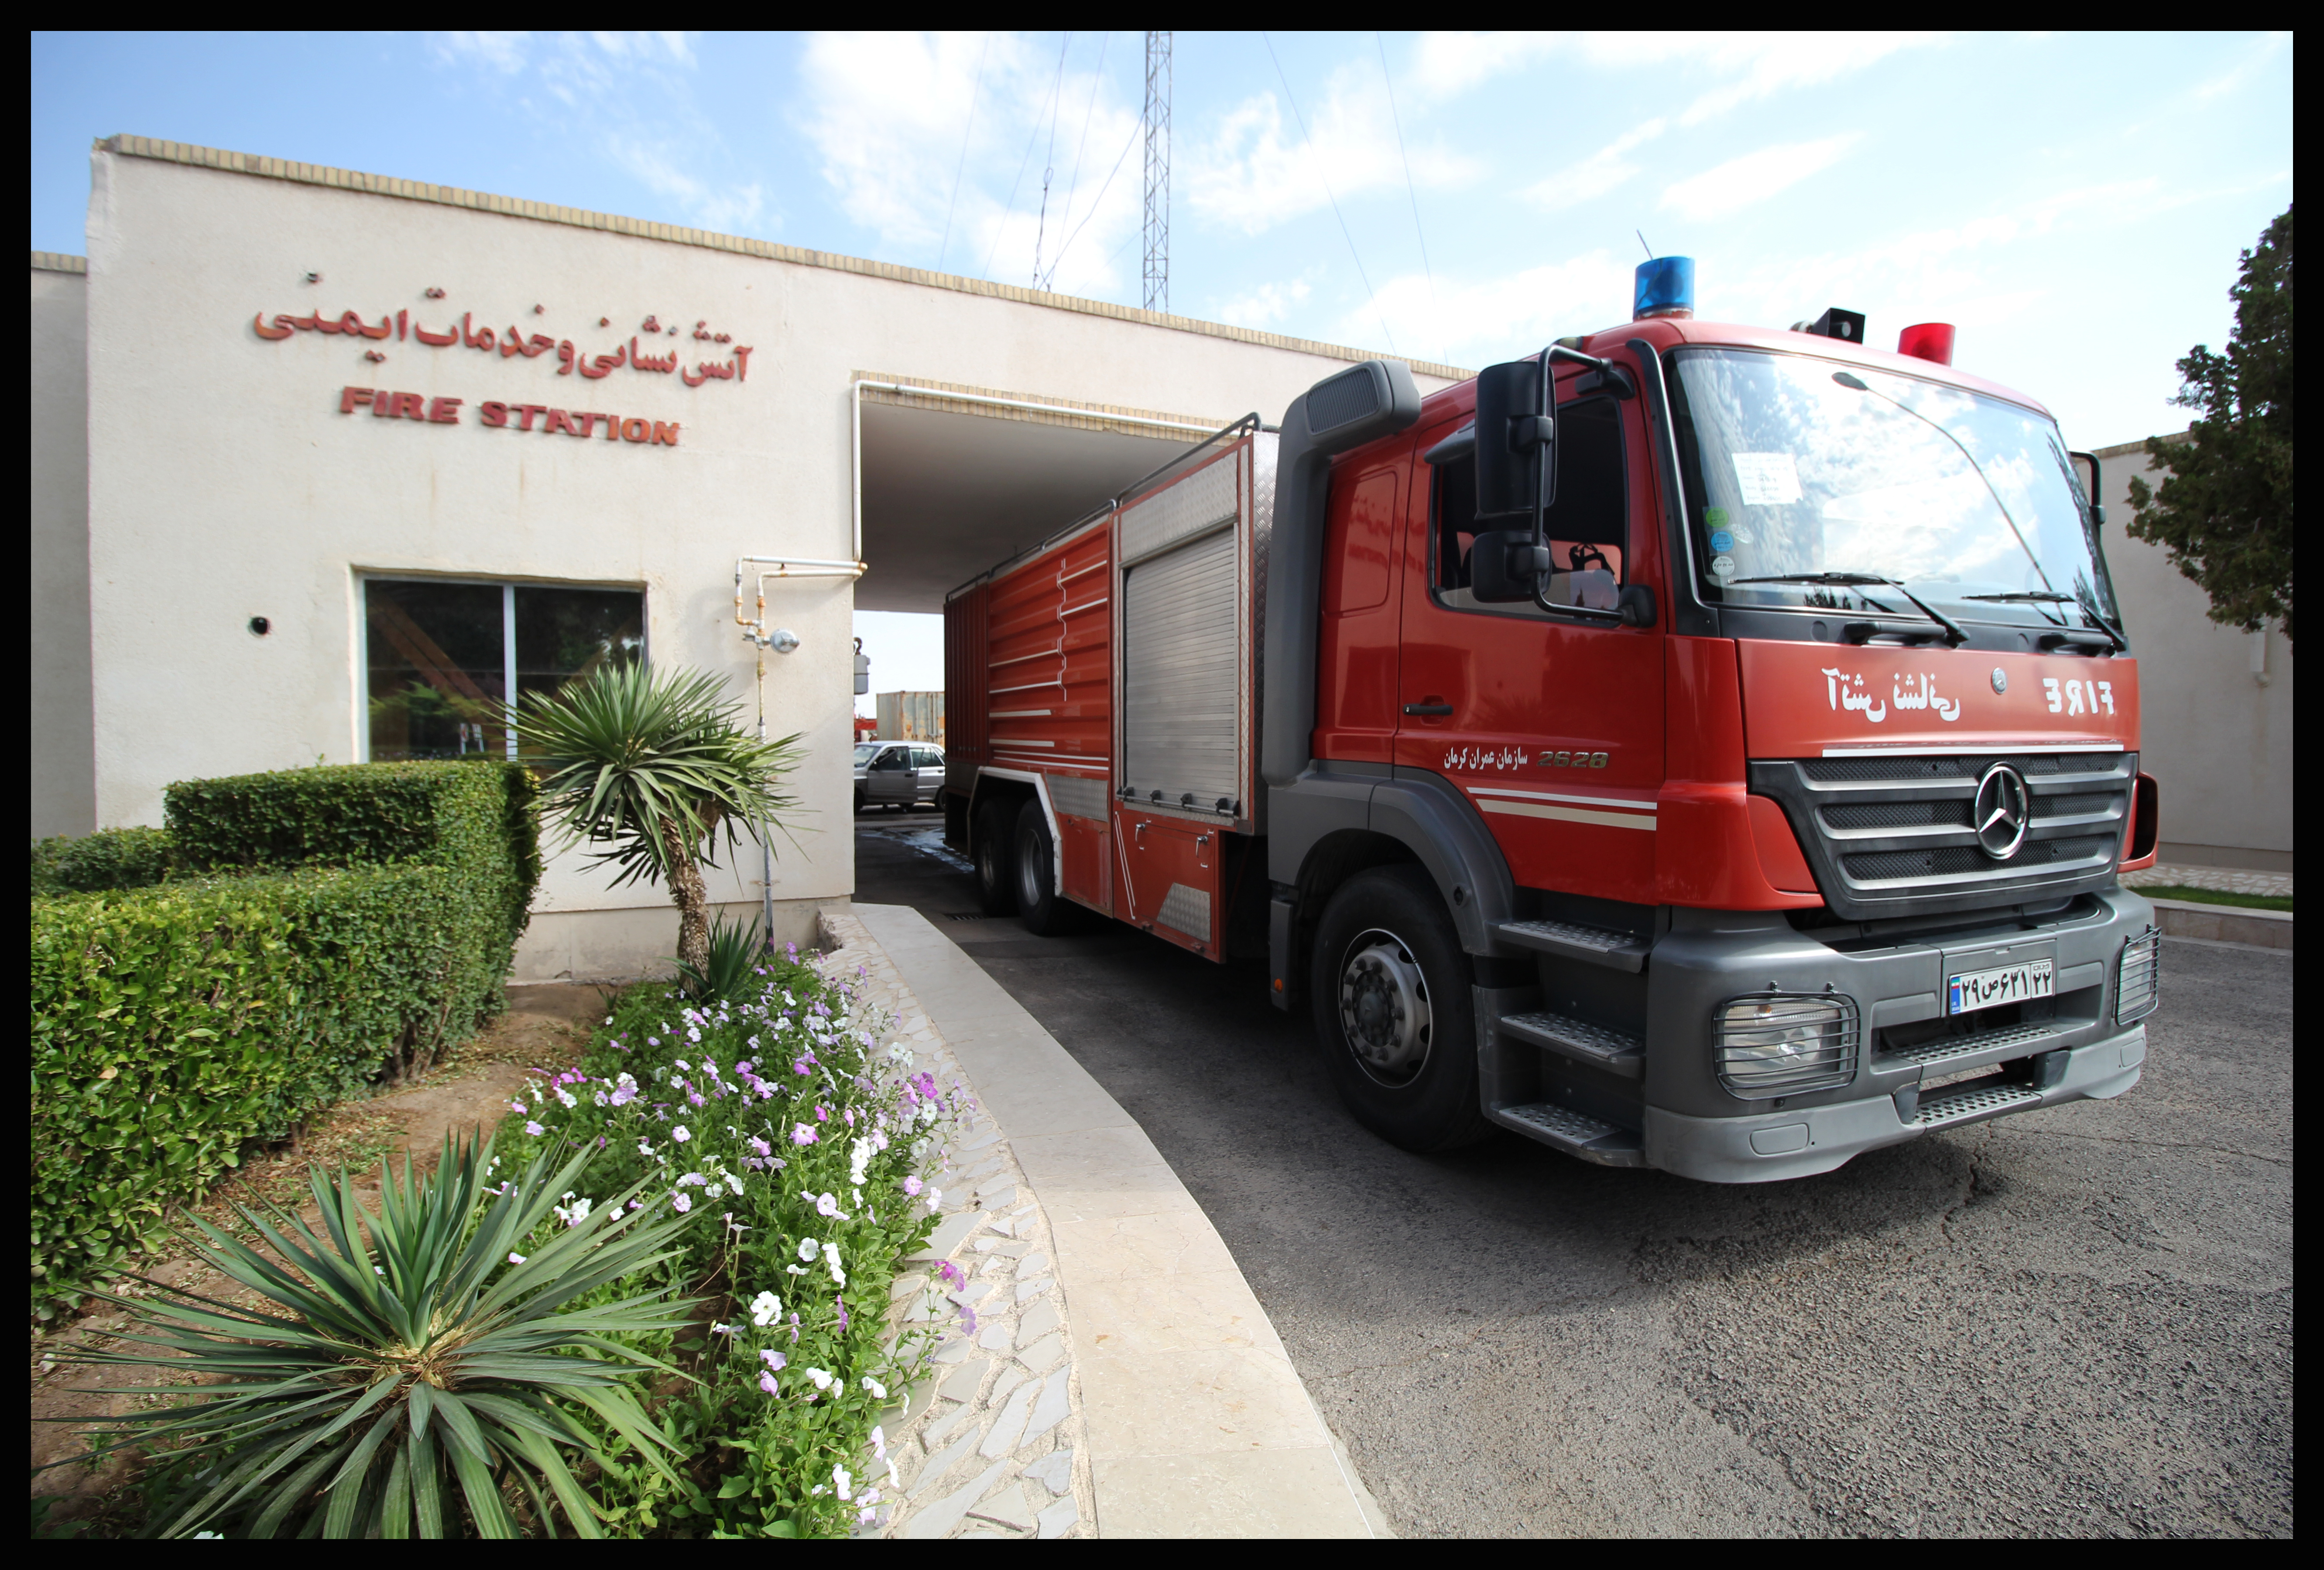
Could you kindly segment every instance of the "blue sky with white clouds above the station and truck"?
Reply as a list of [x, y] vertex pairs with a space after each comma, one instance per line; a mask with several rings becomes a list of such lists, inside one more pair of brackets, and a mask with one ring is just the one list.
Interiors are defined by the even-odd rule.
[[[1141, 33], [35, 33], [33, 249], [114, 132], [1143, 304]], [[2289, 35], [1181, 33], [1169, 309], [1478, 367], [1629, 318], [1864, 311], [2068, 444], [2182, 430], [2291, 204]], [[858, 615], [874, 687], [934, 618]]]

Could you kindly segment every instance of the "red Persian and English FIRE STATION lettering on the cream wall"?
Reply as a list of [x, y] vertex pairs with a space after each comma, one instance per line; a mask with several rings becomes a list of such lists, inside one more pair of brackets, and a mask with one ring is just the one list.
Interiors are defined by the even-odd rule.
[[[428, 290], [430, 297], [442, 297], [442, 290]], [[532, 307], [535, 316], [544, 316], [546, 307]], [[600, 316], [600, 327], [611, 327], [611, 318]], [[462, 311], [456, 325], [446, 325], [442, 332], [411, 321], [411, 311], [402, 309], [393, 316], [381, 311], [376, 323], [363, 321], [358, 311], [339, 311], [330, 316], [328, 311], [309, 311], [307, 316], [293, 316], [288, 311], [277, 311], [272, 321], [265, 311], [251, 318], [251, 332], [265, 341], [284, 341], [300, 332], [318, 332], [328, 337], [346, 337], [365, 344], [421, 344], [425, 348], [469, 348], [495, 360], [539, 360], [541, 355], [555, 353], [558, 376], [581, 374], [586, 381], [602, 381], [614, 372], [630, 369], [634, 374], [648, 376], [676, 376], [688, 388], [700, 388], [713, 381], [748, 381], [751, 379], [751, 346], [734, 344], [730, 332], [711, 332], [709, 321], [697, 321], [690, 341], [720, 346], [725, 358], [697, 358], [693, 365], [681, 367], [683, 351], [679, 344], [665, 344], [665, 339], [679, 337], [679, 327], [665, 327], [658, 316], [648, 316], [639, 323], [637, 332], [630, 334], [625, 344], [616, 344], [607, 353], [586, 353], [572, 339], [555, 339], [546, 332], [523, 332], [521, 327], [476, 327], [474, 314]], [[646, 339], [655, 346], [646, 348]], [[716, 351], [713, 351], [716, 353]], [[386, 362], [386, 351], [372, 346], [365, 348], [365, 360], [381, 365]], [[630, 383], [634, 386], [634, 383]], [[370, 409], [374, 418], [402, 418], [418, 420], [423, 425], [462, 425], [460, 409], [469, 399], [462, 397], [425, 397], [421, 392], [397, 392], [388, 388], [339, 388], [339, 413], [356, 413], [358, 409]], [[604, 413], [597, 409], [553, 409], [548, 404], [530, 404], [514, 399], [483, 399], [476, 404], [476, 425], [488, 430], [514, 430], [514, 432], [539, 432], [539, 434], [565, 434], [565, 437], [595, 437], [604, 434], [607, 441], [630, 441], [637, 446], [679, 446], [679, 420], [655, 420], [641, 416]]]

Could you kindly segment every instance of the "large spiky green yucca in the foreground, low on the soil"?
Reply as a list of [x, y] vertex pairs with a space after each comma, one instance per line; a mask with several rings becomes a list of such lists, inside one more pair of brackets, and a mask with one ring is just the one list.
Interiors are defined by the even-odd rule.
[[[198, 1219], [193, 1252], [265, 1308], [174, 1287], [112, 1298], [146, 1331], [123, 1342], [151, 1349], [86, 1361], [198, 1380], [149, 1387], [184, 1403], [107, 1419], [109, 1442], [153, 1449], [151, 1535], [444, 1537], [460, 1533], [465, 1500], [479, 1535], [514, 1537], [504, 1486], [516, 1484], [537, 1531], [553, 1535], [562, 1514], [574, 1535], [600, 1537], [567, 1456], [611, 1456], [581, 1410], [669, 1472], [672, 1445], [632, 1393], [639, 1366], [665, 1366], [611, 1338], [667, 1333], [690, 1303], [569, 1305], [674, 1256], [683, 1219], [632, 1210], [637, 1189], [558, 1205], [588, 1150], [555, 1175], [537, 1159], [490, 1187], [490, 1150], [446, 1136], [432, 1173], [414, 1178], [407, 1159], [397, 1180], [381, 1164], [376, 1215], [344, 1171], [316, 1168], [309, 1189], [328, 1238], [281, 1208], [237, 1205], [272, 1259]], [[523, 1254], [551, 1210], [562, 1226]]]

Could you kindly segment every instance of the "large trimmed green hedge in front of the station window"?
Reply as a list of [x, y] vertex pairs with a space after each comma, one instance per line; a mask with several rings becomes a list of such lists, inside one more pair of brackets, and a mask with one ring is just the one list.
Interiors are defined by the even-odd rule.
[[246, 1143], [500, 1008], [530, 806], [509, 764], [191, 780], [177, 880], [33, 899], [35, 1312], [151, 1247]]

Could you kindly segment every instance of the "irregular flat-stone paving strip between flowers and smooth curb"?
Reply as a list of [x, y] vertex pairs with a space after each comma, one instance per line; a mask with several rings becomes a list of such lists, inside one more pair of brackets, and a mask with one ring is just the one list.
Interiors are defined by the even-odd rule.
[[[951, 1045], [853, 915], [823, 917], [827, 971], [865, 971], [939, 1085], [967, 1082]], [[969, 1087], [974, 1094], [974, 1087]], [[1009, 1140], [978, 1112], [934, 1178], [944, 1222], [895, 1282], [897, 1331], [937, 1324], [934, 1373], [881, 1424], [888, 1463], [865, 1459], [881, 1514], [858, 1537], [1095, 1537], [1081, 1387], [1041, 1203]], [[957, 1280], [941, 1275], [951, 1263]], [[960, 1312], [960, 1310], [969, 1312]]]

